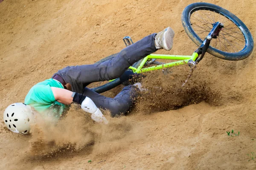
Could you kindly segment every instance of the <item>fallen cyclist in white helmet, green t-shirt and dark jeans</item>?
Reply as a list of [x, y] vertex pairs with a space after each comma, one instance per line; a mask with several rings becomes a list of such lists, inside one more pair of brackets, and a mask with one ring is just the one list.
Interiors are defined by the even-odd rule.
[[116, 79], [127, 81], [131, 74], [126, 71], [134, 62], [143, 59], [158, 49], [171, 50], [175, 33], [168, 27], [159, 33], [144, 37], [142, 40], [122, 49], [109, 61], [93, 65], [67, 66], [55, 73], [52, 78], [34, 85], [28, 92], [24, 103], [9, 105], [4, 111], [5, 125], [15, 133], [29, 133], [29, 124], [34, 113], [59, 118], [72, 102], [91, 113], [96, 122], [108, 123], [99, 108], [108, 109], [111, 116], [126, 113], [133, 104], [139, 82], [127, 85], [114, 98], [97, 94], [86, 88], [91, 82]]

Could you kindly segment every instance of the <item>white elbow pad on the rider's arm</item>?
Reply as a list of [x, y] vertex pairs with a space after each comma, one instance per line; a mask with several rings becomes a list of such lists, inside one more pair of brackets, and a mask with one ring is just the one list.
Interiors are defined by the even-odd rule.
[[97, 123], [105, 123], [108, 124], [108, 120], [102, 114], [102, 112], [97, 108], [92, 99], [86, 97], [84, 101], [81, 103], [81, 108], [88, 113], [91, 113], [91, 118]]

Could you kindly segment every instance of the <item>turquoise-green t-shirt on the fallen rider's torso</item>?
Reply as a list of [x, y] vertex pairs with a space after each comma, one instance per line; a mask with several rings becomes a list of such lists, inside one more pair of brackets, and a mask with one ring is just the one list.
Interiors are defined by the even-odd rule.
[[51, 87], [64, 88], [54, 79], [47, 79], [34, 85], [26, 95], [25, 104], [35, 108], [36, 111], [47, 116], [59, 117], [66, 105], [57, 102], [53, 96]]

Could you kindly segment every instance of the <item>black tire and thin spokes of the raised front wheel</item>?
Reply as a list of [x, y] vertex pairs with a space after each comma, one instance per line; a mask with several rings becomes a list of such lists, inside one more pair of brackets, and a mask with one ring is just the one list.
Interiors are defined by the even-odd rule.
[[[213, 45], [210, 45], [208, 50], [207, 50], [208, 53], [214, 55], [215, 57], [218, 57], [218, 58], [221, 58], [221, 59], [227, 59], [227, 60], [241, 60], [241, 59], [245, 59], [245, 58], [247, 58], [252, 53], [252, 51], [253, 51], [253, 37], [252, 37], [249, 29], [245, 26], [245, 24], [238, 17], [236, 17], [234, 14], [232, 14], [231, 12], [227, 11], [224, 8], [221, 8], [219, 6], [216, 6], [216, 5], [210, 4], [210, 3], [192, 3], [189, 6], [186, 6], [186, 8], [183, 10], [183, 13], [182, 13], [181, 20], [182, 20], [183, 27], [184, 27], [184, 29], [186, 31], [186, 34], [188, 34], [189, 38], [193, 42], [195, 42], [196, 45], [200, 46], [202, 44], [203, 40], [202, 40], [202, 38], [200, 38], [198, 36], [198, 34], [196, 34], [195, 31], [197, 31], [197, 30], [194, 31], [194, 29], [192, 28], [193, 27], [192, 26], [193, 23], [191, 25], [191, 21], [190, 21], [191, 18], [190, 17], [191, 17], [191, 15], [195, 11], [200, 11], [200, 10], [207, 10], [209, 12], [212, 11], [212, 12], [214, 12], [214, 15], [215, 14], [220, 14], [220, 15], [224, 16], [225, 18], [227, 18], [228, 22], [231, 21], [233, 24], [235, 24], [234, 25], [235, 28], [237, 26], [237, 28], [241, 31], [241, 33], [242, 33], [241, 36], [244, 36], [244, 41], [245, 41], [244, 42], [244, 48], [242, 47], [241, 48], [242, 50], [238, 51], [238, 52], [236, 52], [237, 48], [235, 49], [235, 52], [231, 52], [231, 51], [227, 52], [227, 47], [225, 46], [225, 48], [226, 48], [226, 52], [225, 52], [225, 51], [219, 50], [217, 48], [214, 48]], [[202, 16], [203, 17], [204, 16], [208, 17], [210, 19], [210, 21], [211, 21], [211, 18], [209, 17], [208, 14], [207, 15], [204, 14]], [[193, 20], [193, 18], [192, 18], [192, 20]], [[213, 22], [215, 22], [214, 19], [213, 19]], [[200, 28], [202, 28], [202, 27], [200, 27]], [[206, 27], [204, 27], [204, 28], [206, 28]], [[225, 28], [225, 25], [224, 25], [224, 28]], [[233, 33], [231, 33], [231, 34], [233, 34]], [[225, 35], [230, 35], [230, 34], [225, 34]], [[224, 37], [224, 34], [223, 34], [223, 37]], [[233, 37], [233, 36], [231, 36], [231, 37]], [[224, 42], [225, 42], [225, 37], [224, 37]], [[221, 42], [221, 43], [223, 44], [223, 42]], [[220, 43], [219, 46], [221, 46], [221, 43]], [[230, 45], [228, 45], [228, 46], [230, 46]], [[217, 39], [216, 39], [216, 46], [215, 47], [217, 47]]]

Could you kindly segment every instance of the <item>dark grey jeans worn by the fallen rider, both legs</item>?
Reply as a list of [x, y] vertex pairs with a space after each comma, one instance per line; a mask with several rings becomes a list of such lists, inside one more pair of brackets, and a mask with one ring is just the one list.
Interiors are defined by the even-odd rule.
[[93, 65], [67, 66], [56, 74], [60, 75], [66, 83], [71, 84], [72, 91], [88, 96], [97, 107], [110, 110], [111, 116], [126, 113], [134, 102], [135, 94], [132, 92], [134, 86], [126, 86], [114, 98], [102, 96], [85, 87], [91, 82], [116, 79], [132, 64], [157, 51], [154, 45], [155, 35], [148, 35], [129, 45], [109, 61]]

